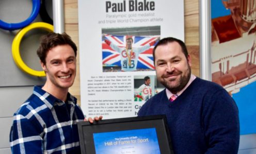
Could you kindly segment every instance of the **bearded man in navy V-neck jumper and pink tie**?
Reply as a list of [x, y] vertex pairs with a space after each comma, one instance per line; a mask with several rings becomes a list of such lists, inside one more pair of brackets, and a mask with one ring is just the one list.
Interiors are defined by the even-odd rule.
[[174, 153], [237, 153], [238, 109], [221, 86], [191, 74], [185, 44], [163, 38], [153, 49], [157, 80], [166, 89], [138, 115], [166, 114]]

